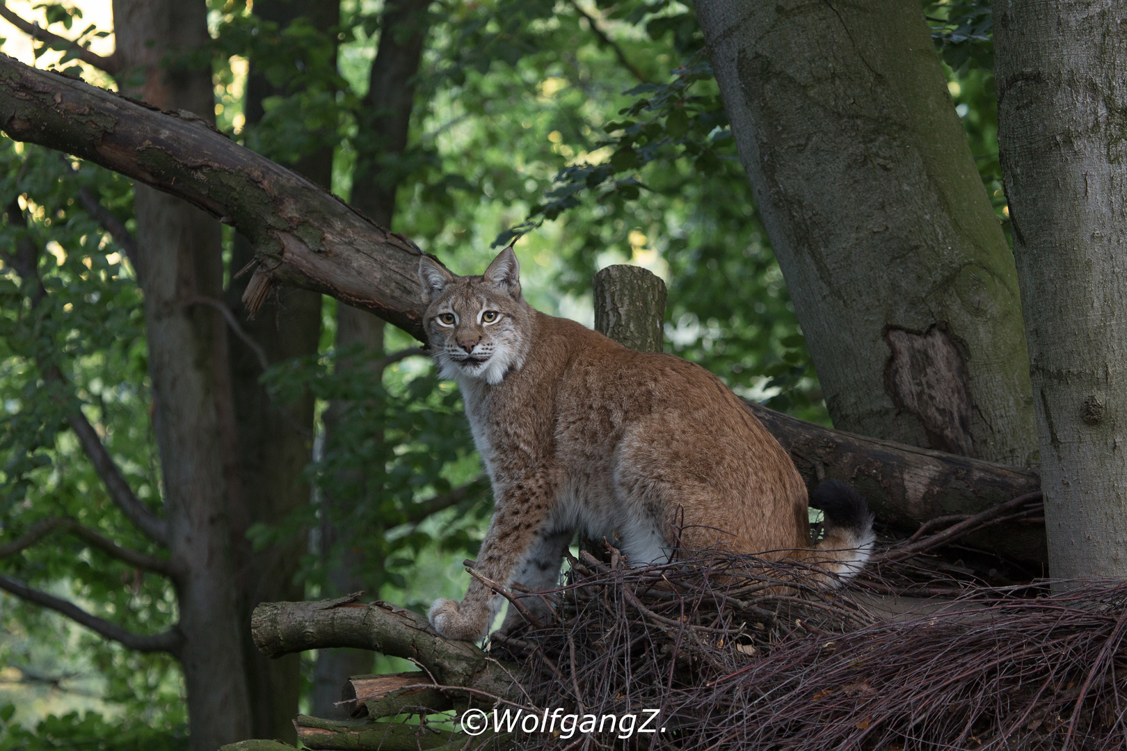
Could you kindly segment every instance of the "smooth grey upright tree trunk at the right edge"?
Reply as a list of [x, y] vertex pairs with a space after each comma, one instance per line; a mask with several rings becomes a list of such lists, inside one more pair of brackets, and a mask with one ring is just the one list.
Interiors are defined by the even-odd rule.
[[1127, 574], [1127, 8], [995, 6], [1050, 573]]

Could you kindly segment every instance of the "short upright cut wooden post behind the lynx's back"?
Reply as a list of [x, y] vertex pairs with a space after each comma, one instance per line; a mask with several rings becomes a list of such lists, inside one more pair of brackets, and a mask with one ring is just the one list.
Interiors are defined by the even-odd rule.
[[662, 351], [665, 283], [640, 266], [607, 266], [592, 279], [595, 331], [630, 349]]

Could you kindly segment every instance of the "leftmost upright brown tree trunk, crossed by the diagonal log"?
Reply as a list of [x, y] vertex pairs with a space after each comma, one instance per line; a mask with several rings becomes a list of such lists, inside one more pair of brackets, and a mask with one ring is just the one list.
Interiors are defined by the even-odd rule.
[[[123, 80], [144, 72], [143, 88], [131, 93], [213, 118], [211, 71], [161, 65], [167, 54], [208, 43], [206, 14], [203, 0], [115, 0]], [[250, 733], [224, 465], [232, 422], [227, 332], [215, 310], [190, 302], [222, 293], [220, 227], [197, 207], [144, 185], [136, 186], [135, 213], [190, 744], [212, 751]]]

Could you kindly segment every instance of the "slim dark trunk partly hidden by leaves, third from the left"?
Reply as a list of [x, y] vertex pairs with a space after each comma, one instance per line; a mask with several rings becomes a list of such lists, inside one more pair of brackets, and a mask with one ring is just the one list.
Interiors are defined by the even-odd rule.
[[[426, 0], [399, 0], [388, 2], [380, 18], [380, 42], [375, 60], [369, 73], [367, 93], [360, 116], [357, 133], [356, 167], [353, 172], [352, 205], [376, 224], [390, 227], [396, 213], [396, 193], [400, 175], [394, 168], [387, 169], [383, 161], [403, 152], [407, 147], [408, 128], [415, 105], [415, 77], [418, 73], [423, 44], [427, 34]], [[390, 160], [392, 163], [394, 160]], [[371, 313], [352, 307], [337, 306], [337, 347], [360, 345], [367, 356], [378, 356], [383, 350], [383, 321]], [[350, 367], [340, 361], [338, 367]], [[383, 377], [382, 369], [374, 369], [372, 378]], [[347, 413], [348, 404], [335, 402], [326, 413], [326, 440], [334, 439], [336, 426]], [[331, 522], [334, 517], [346, 518], [355, 499], [326, 497], [322, 502], [327, 513], [322, 516], [321, 545], [347, 540], [347, 531]], [[379, 598], [380, 592], [372, 583], [363, 581], [354, 571], [357, 553], [341, 553], [338, 565], [330, 573], [332, 589], [329, 596], [365, 590], [369, 598]], [[349, 676], [371, 672], [372, 653], [364, 650], [320, 650], [313, 670], [313, 714], [319, 717], [337, 717], [347, 714], [347, 708], [338, 708], [340, 687]]]

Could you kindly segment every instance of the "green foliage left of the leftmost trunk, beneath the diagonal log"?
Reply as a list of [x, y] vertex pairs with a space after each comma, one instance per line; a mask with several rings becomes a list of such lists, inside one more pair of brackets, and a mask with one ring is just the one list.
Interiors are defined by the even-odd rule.
[[[128, 216], [127, 181], [85, 166], [76, 171], [54, 152], [0, 142], [0, 195], [9, 209], [0, 223], [0, 247], [30, 263], [21, 276], [9, 256], [0, 277], [0, 543], [43, 518], [65, 516], [156, 555], [109, 501], [65, 422], [83, 410], [137, 495], [159, 502], [140, 296], [121, 249], [81, 208], [80, 186], [122, 218]], [[17, 196], [26, 196], [23, 211]], [[2, 565], [7, 575], [78, 599], [140, 633], [161, 631], [175, 619], [166, 580], [71, 536], [56, 533]], [[9, 597], [2, 602], [7, 633], [87, 650], [89, 668], [105, 677], [110, 700], [140, 712], [179, 698], [167, 655], [133, 654], [85, 629], [76, 636], [37, 607]], [[34, 667], [33, 646], [28, 640], [5, 640], [0, 663]]]

